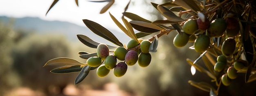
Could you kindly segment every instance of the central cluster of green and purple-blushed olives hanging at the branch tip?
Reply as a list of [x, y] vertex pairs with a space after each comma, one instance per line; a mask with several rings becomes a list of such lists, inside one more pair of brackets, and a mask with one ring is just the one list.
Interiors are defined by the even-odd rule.
[[[135, 65], [137, 62], [141, 67], [147, 67], [150, 64], [150, 45], [151, 42], [149, 40], [139, 39], [139, 42], [137, 42], [131, 39], [127, 44], [127, 48], [117, 47], [115, 51], [111, 52], [107, 45], [99, 44], [97, 47], [97, 56], [88, 58], [87, 64], [90, 67], [99, 66], [97, 69], [97, 75], [99, 77], [107, 76], [110, 69], [114, 69], [115, 76], [121, 77], [126, 73], [128, 66]], [[135, 47], [138, 46], [139, 48], [136, 50]], [[135, 49], [133, 50], [133, 48]], [[117, 59], [124, 62], [117, 63]]]

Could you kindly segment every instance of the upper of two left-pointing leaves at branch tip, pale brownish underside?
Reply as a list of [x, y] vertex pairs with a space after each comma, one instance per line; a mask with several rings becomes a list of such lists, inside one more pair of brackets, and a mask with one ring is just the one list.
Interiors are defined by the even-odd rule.
[[43, 67], [47, 65], [60, 65], [62, 67], [65, 67], [65, 66], [85, 65], [85, 64], [80, 63], [79, 61], [74, 60], [72, 58], [60, 57], [60, 58], [54, 58], [47, 61], [47, 63], [45, 63]]

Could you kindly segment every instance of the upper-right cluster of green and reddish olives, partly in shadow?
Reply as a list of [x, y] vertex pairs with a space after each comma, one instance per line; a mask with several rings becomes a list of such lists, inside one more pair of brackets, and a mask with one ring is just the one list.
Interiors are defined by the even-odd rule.
[[[238, 35], [240, 30], [238, 20], [231, 17], [216, 18], [212, 22], [207, 18], [204, 21], [200, 18], [196, 20], [189, 19], [184, 22], [182, 29], [184, 32], [175, 36], [173, 44], [175, 47], [184, 47], [188, 42], [194, 42], [194, 48], [197, 52], [203, 52], [209, 48], [210, 38], [217, 38], [223, 36], [223, 34], [226, 34], [227, 37], [234, 37]], [[229, 53], [225, 53], [225, 55], [229, 55]]]

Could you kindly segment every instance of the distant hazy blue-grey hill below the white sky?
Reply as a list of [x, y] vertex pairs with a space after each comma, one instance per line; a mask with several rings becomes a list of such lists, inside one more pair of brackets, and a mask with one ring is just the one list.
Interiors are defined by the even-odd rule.
[[[6, 16], [0, 16], [0, 22], [8, 23], [11, 18]], [[36, 33], [59, 33], [65, 34], [68, 39], [74, 41], [78, 40], [76, 34], [83, 34], [90, 37], [92, 40], [111, 44], [107, 40], [97, 36], [85, 25], [84, 27], [63, 21], [47, 21], [40, 18], [25, 17], [25, 18], [14, 18], [15, 22], [13, 25], [14, 29], [25, 29], [35, 31]], [[82, 21], [81, 21], [82, 22]], [[106, 28], [108, 29], [108, 28]], [[110, 30], [123, 44], [127, 43], [130, 38], [125, 33], [121, 33], [115, 30]]]

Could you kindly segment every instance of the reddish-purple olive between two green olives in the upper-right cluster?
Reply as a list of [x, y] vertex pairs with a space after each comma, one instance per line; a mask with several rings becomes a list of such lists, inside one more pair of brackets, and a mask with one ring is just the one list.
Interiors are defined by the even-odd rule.
[[198, 24], [198, 29], [200, 29], [201, 31], [205, 31], [210, 25], [210, 21], [207, 18], [205, 18], [204, 22], [200, 18], [198, 18], [196, 22]]

